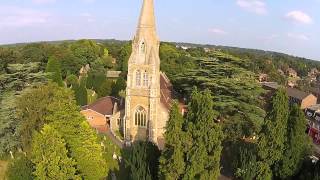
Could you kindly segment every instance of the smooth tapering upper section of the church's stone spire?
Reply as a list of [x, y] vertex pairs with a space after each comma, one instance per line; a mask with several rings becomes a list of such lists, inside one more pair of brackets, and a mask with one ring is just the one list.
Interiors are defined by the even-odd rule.
[[138, 28], [156, 28], [153, 0], [143, 0]]

